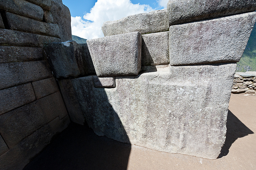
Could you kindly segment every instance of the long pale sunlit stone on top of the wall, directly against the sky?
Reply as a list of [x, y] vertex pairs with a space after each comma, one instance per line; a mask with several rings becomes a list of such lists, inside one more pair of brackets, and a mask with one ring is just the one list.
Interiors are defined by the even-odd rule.
[[116, 21], [107, 21], [102, 25], [104, 36], [140, 32], [148, 34], [169, 30], [168, 16], [165, 10], [131, 15]]

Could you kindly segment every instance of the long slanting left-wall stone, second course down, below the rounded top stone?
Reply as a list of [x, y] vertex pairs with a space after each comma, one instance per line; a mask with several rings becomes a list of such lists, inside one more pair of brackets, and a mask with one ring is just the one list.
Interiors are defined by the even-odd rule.
[[8, 20], [8, 26], [11, 30], [60, 38], [58, 24], [41, 22], [24, 16], [12, 14], [10, 12], [6, 12], [6, 18]]

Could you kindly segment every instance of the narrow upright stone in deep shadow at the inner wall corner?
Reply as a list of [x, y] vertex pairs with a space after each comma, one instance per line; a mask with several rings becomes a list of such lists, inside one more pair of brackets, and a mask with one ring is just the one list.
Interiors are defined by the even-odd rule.
[[70, 120], [74, 123], [84, 125], [84, 114], [80, 108], [80, 104], [77, 101], [71, 80], [59, 80], [58, 83]]

